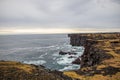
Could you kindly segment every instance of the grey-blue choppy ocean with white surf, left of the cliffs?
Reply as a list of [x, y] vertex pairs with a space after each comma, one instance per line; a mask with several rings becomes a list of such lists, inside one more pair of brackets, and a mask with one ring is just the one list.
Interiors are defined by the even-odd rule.
[[[59, 55], [60, 51], [77, 54]], [[80, 65], [71, 62], [83, 51], [82, 46], [70, 45], [67, 34], [0, 35], [0, 60], [43, 65], [51, 70], [79, 69]]]

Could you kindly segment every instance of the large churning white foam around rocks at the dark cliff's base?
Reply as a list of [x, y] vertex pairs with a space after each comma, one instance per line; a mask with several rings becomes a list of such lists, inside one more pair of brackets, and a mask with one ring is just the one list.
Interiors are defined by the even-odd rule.
[[76, 55], [74, 55], [74, 54], [59, 55], [59, 57], [56, 59], [57, 63], [59, 65], [64, 65], [65, 66], [63, 69], [59, 69], [59, 71], [79, 69], [80, 65], [72, 64], [72, 62], [75, 59], [77, 59], [79, 56], [82, 55], [83, 49], [84, 48], [81, 47], [81, 46], [73, 46], [73, 47], [69, 46], [69, 50], [66, 50], [66, 52], [67, 51], [72, 51], [73, 53], [77, 53]]

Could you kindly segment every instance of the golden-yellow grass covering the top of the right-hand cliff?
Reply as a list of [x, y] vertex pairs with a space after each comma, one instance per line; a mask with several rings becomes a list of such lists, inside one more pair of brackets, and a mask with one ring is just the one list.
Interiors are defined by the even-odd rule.
[[[104, 35], [103, 37], [108, 38], [111, 37], [111, 35]], [[91, 67], [92, 70], [86, 71], [86, 73], [83, 72], [84, 74], [81, 73], [82, 69], [77, 72], [65, 71], [64, 74], [80, 80], [120, 80], [120, 54], [117, 53], [117, 51], [120, 50], [120, 39], [117, 39], [117, 36], [113, 37], [116, 39], [97, 39], [97, 43], [91, 45], [105, 51], [105, 54], [112, 55], [113, 58], [103, 60], [100, 64], [95, 66], [96, 69], [92, 69]], [[90, 40], [92, 41], [92, 39], [89, 39], [89, 41]], [[92, 76], [87, 75], [91, 74], [91, 72], [94, 73]]]

